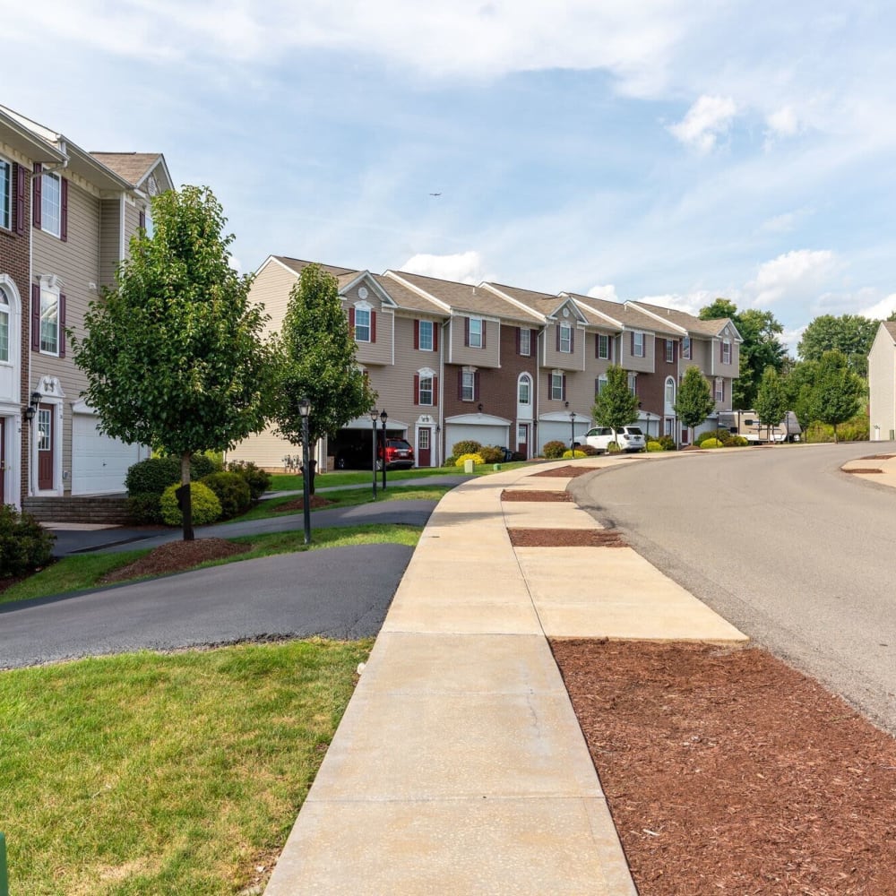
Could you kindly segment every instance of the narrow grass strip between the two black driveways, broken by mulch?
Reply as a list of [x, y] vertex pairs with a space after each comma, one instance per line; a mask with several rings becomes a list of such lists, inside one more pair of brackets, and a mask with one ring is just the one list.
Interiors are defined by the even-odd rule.
[[[289, 554], [293, 551], [320, 550], [324, 547], [376, 544], [399, 544], [415, 547], [420, 538], [420, 531], [416, 526], [379, 524], [341, 526], [312, 530], [310, 545], [305, 544], [304, 530], [229, 538], [229, 541], [236, 544], [248, 546], [249, 550], [245, 554], [226, 557], [222, 560], [212, 560], [201, 564], [201, 566], [238, 563], [241, 560], [254, 559], [254, 557]], [[149, 553], [149, 548], [144, 548], [143, 550], [125, 551], [121, 554], [75, 554], [63, 557], [23, 582], [0, 592], [0, 604], [101, 587], [99, 580], [104, 575], [121, 566], [134, 563], [134, 560]]]

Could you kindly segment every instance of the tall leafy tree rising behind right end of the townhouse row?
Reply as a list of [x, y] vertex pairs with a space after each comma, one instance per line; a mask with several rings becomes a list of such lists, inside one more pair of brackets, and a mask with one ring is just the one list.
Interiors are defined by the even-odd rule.
[[711, 305], [701, 308], [703, 321], [728, 317], [744, 340], [740, 346], [740, 367], [734, 383], [731, 400], [734, 407], [751, 409], [766, 367], [774, 367], [779, 373], [787, 359], [787, 349], [778, 338], [784, 327], [771, 311], [747, 308], [737, 311], [737, 306], [727, 298], [717, 298]]

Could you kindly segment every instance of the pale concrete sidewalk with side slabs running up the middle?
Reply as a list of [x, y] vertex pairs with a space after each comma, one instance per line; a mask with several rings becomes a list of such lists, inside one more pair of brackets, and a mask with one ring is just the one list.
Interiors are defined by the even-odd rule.
[[547, 638], [746, 639], [631, 548], [514, 549], [508, 526], [599, 528], [572, 503], [502, 502], [563, 491], [546, 469], [436, 508], [269, 896], [635, 893]]

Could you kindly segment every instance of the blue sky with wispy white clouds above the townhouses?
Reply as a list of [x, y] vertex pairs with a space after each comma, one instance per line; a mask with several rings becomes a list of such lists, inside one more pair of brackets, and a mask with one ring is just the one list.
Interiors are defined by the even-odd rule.
[[[43, 0], [0, 102], [206, 184], [238, 265], [896, 308], [892, 3]], [[439, 196], [431, 194], [439, 193]]]

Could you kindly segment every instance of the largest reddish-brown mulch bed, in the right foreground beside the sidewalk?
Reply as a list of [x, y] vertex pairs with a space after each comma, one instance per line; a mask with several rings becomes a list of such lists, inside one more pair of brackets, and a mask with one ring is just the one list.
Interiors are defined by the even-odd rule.
[[896, 740], [758, 649], [552, 642], [641, 896], [896, 894]]

